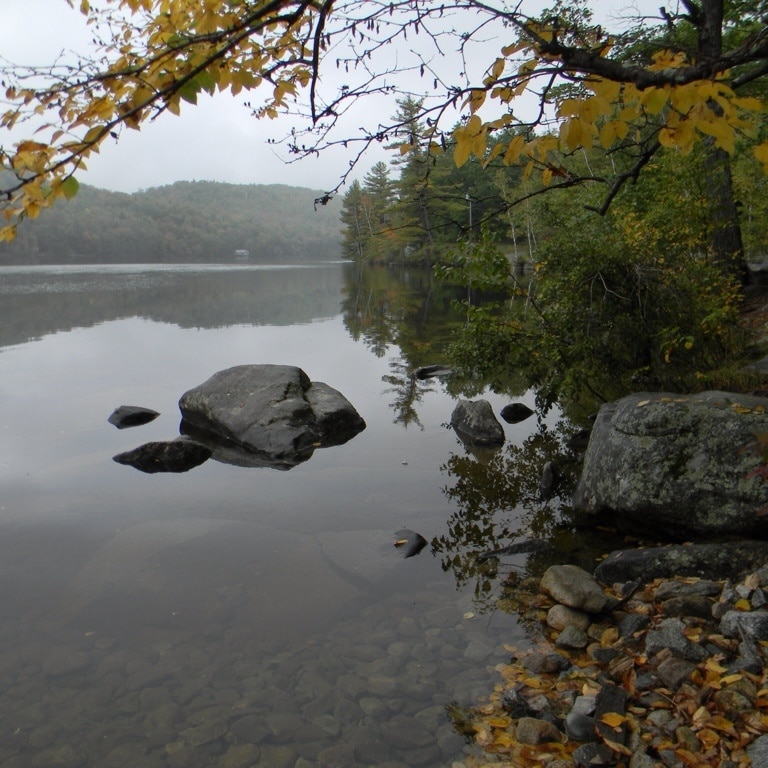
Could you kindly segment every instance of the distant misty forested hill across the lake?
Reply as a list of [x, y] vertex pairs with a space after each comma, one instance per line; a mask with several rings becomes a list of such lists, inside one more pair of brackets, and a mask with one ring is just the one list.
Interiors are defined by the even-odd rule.
[[283, 184], [180, 181], [133, 194], [82, 185], [25, 221], [1, 264], [211, 263], [247, 250], [252, 262], [339, 258], [339, 206]]

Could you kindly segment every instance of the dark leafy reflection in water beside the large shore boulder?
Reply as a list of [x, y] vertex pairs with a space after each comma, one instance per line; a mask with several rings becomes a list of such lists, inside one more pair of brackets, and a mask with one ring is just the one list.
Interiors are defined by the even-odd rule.
[[[562, 560], [570, 538], [564, 523], [578, 468], [565, 443], [574, 431], [566, 420], [554, 427], [539, 423], [521, 445], [510, 443], [486, 456], [453, 454], [441, 467], [451, 481], [443, 493], [457, 508], [447, 533], [432, 540], [432, 552], [441, 558], [443, 570], [453, 572], [458, 588], [474, 581], [479, 607], [495, 602], [493, 583], [502, 567], [534, 574]], [[542, 475], [550, 461], [554, 484], [542, 494]], [[484, 556], [523, 538], [552, 546], [508, 558]]]

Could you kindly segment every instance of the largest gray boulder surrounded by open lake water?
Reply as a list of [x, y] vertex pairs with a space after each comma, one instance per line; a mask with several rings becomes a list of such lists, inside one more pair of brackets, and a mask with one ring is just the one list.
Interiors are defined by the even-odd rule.
[[179, 400], [182, 431], [212, 445], [214, 458], [287, 469], [315, 448], [340, 445], [365, 429], [335, 389], [289, 365], [238, 365]]

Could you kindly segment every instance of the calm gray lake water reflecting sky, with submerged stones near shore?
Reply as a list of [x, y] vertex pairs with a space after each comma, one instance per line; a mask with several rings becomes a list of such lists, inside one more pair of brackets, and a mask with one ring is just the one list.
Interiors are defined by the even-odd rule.
[[[450, 299], [344, 264], [2, 269], [0, 766], [462, 759], [445, 706], [525, 639], [486, 610], [470, 544], [507, 543], [526, 510], [483, 497], [497, 459], [446, 426], [445, 383], [409, 375], [441, 362]], [[112, 461], [177, 436], [182, 393], [244, 363], [300, 366], [367, 428], [290, 471]], [[119, 431], [121, 404], [161, 416]], [[513, 498], [547, 423], [504, 425]], [[404, 559], [401, 528], [430, 546]]]

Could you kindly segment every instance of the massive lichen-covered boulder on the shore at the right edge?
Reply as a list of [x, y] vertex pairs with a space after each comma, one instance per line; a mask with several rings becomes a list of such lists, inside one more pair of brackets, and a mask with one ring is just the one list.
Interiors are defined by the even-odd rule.
[[768, 535], [768, 398], [635, 394], [600, 409], [574, 506], [679, 535]]

